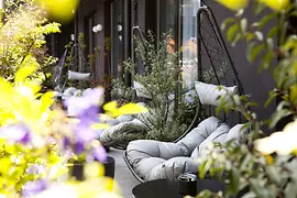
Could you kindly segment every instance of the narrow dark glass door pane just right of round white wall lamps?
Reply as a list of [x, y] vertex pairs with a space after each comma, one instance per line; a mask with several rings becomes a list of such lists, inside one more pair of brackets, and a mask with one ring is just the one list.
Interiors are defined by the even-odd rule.
[[123, 43], [122, 43], [122, 1], [118, 0], [112, 3], [112, 61], [111, 73], [113, 77], [118, 77], [122, 72], [123, 66]]

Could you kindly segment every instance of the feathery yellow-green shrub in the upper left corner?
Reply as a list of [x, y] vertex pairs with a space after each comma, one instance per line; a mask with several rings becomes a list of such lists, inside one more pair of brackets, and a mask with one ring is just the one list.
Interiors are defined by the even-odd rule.
[[33, 0], [8, 0], [0, 21], [0, 76], [12, 80], [25, 66], [36, 66], [46, 75], [56, 59], [46, 54], [45, 35], [57, 32], [59, 24], [48, 23]]

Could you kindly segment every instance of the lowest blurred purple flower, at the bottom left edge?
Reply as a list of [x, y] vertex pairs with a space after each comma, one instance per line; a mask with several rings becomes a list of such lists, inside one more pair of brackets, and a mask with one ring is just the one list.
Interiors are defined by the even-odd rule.
[[47, 187], [47, 182], [45, 179], [38, 179], [33, 182], [26, 182], [22, 188], [22, 196], [30, 197], [36, 195]]

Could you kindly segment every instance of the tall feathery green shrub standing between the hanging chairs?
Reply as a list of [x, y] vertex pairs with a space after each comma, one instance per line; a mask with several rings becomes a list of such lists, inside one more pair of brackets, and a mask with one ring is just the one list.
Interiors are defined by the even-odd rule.
[[[144, 45], [135, 38], [135, 54], [144, 64], [143, 73], [136, 73], [136, 65], [131, 61], [124, 63], [124, 69], [150, 96], [145, 101], [148, 113], [138, 117], [148, 128], [146, 138], [163, 141], [172, 141], [185, 132], [197, 105], [186, 103], [185, 95], [190, 91], [180, 80], [178, 53], [168, 50], [169, 38], [169, 34], [164, 34], [157, 43], [152, 32], [147, 33]], [[113, 80], [112, 94], [118, 98], [124, 95], [128, 101], [133, 99], [133, 90], [121, 82], [121, 78]], [[195, 96], [191, 97], [194, 100]]]

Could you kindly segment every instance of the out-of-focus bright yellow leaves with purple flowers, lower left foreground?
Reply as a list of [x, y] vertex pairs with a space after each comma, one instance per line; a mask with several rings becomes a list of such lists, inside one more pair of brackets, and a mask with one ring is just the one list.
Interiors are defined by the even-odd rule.
[[[36, 67], [33, 66], [20, 68], [13, 82], [0, 78], [0, 193], [8, 197], [46, 197], [48, 194], [61, 197], [58, 194], [68, 193], [70, 188], [72, 193], [79, 197], [96, 197], [101, 194], [120, 197], [117, 184], [103, 178], [105, 170], [100, 161], [90, 161], [90, 156], [96, 156], [92, 152], [97, 148], [97, 155], [106, 155], [95, 139], [96, 135], [87, 144], [81, 144], [86, 135], [92, 136], [91, 133], [97, 134], [96, 130], [108, 128], [100, 121], [103, 116], [94, 114], [91, 116], [88, 112], [88, 117], [85, 117], [87, 120], [77, 120], [78, 118], [68, 119], [59, 109], [51, 110], [53, 92], [40, 94], [40, 82], [35, 78], [29, 78], [35, 70]], [[103, 91], [100, 88], [96, 91], [90, 92], [88, 97], [91, 98], [84, 99], [85, 106], [96, 105], [95, 108], [98, 109], [99, 96], [102, 96]], [[81, 107], [81, 101], [76, 105]], [[147, 111], [134, 103], [118, 108], [117, 102], [110, 102], [103, 108], [106, 117], [111, 118]], [[96, 121], [91, 121], [94, 119]], [[84, 136], [79, 138], [75, 130], [81, 130], [79, 124], [82, 122], [84, 127], [90, 124], [90, 128], [82, 130]], [[70, 141], [69, 147], [65, 147], [66, 140]], [[76, 153], [77, 143], [81, 144], [80, 150], [84, 151]], [[86, 180], [82, 183], [75, 180], [72, 175], [72, 167], [78, 162], [86, 166]], [[98, 188], [98, 185], [101, 187]]]

